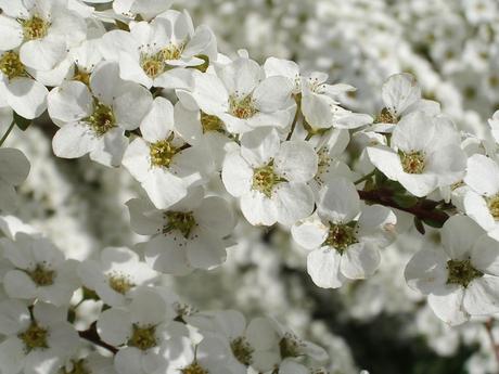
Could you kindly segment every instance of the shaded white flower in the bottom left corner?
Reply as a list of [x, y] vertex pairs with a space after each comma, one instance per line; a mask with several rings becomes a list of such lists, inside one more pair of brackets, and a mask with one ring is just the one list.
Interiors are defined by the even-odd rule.
[[33, 314], [20, 300], [0, 302], [2, 374], [55, 374], [79, 345], [67, 309], [37, 302]]

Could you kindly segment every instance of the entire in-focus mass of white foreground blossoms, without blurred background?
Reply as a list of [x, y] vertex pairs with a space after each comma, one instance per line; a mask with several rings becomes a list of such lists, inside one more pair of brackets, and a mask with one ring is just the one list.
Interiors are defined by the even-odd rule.
[[220, 267], [244, 222], [290, 234], [312, 282], [340, 288], [374, 276], [411, 217], [442, 230], [409, 287], [450, 325], [499, 313], [499, 112], [472, 136], [399, 73], [359, 113], [355, 87], [223, 54], [171, 1], [86, 3], [0, 0], [0, 145], [47, 112], [55, 156], [140, 185], [141, 242], [76, 260], [8, 216], [30, 166], [0, 149], [2, 373], [327, 373], [276, 319], [197, 311], [164, 285]]

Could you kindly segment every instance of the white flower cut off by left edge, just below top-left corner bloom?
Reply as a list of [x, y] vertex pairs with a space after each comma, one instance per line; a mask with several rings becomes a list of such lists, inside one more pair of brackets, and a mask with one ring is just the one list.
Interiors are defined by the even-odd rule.
[[12, 109], [22, 117], [36, 118], [47, 108], [48, 93], [42, 83], [31, 78], [17, 51], [1, 51], [0, 48], [0, 95]]

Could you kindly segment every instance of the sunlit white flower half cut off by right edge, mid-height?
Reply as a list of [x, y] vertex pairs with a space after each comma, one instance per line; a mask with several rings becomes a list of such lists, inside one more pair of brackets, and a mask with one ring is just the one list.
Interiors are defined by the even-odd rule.
[[489, 235], [499, 240], [499, 165], [491, 158], [474, 154], [468, 159], [464, 183], [464, 211]]

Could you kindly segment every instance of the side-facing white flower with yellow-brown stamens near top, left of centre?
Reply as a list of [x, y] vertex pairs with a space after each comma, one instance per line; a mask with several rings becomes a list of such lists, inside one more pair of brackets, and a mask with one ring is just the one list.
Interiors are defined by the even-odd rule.
[[[194, 29], [189, 14], [177, 11], [167, 11], [151, 23], [131, 23], [130, 33], [107, 33], [102, 47], [106, 60], [119, 63], [123, 79], [146, 88], [172, 88], [171, 75], [182, 74], [172, 68], [203, 65], [205, 61], [200, 55], [216, 57], [213, 31], [207, 26]], [[183, 73], [190, 75], [188, 70]]]

